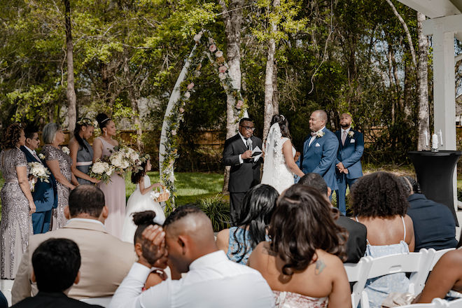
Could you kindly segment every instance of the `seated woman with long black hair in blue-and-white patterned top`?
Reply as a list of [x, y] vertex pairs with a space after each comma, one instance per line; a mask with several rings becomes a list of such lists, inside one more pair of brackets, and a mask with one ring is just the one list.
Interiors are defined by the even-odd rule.
[[216, 235], [216, 246], [225, 251], [230, 260], [246, 265], [253, 248], [260, 241], [269, 241], [267, 228], [278, 197], [277, 190], [265, 184], [248, 190], [235, 222], [237, 227], [221, 230]]

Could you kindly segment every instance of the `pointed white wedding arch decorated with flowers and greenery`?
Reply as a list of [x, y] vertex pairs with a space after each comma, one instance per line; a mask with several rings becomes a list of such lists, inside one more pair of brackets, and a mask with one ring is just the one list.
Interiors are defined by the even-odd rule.
[[[176, 134], [180, 123], [184, 120], [184, 106], [189, 101], [191, 92], [194, 91], [194, 80], [200, 76], [204, 57], [214, 66], [223, 89], [227, 95], [235, 98], [235, 118], [239, 119], [246, 115], [247, 104], [242, 99], [240, 90], [233, 85], [233, 79], [228, 73], [229, 66], [225, 61], [223, 52], [218, 49], [214, 38], [208, 30], [202, 29], [194, 36], [195, 45], [191, 50], [181, 73], [176, 80], [174, 90], [169, 98], [165, 111], [162, 132], [160, 133], [159, 169], [160, 181], [170, 191], [170, 199], [167, 201], [167, 211], [174, 208], [174, 163], [178, 154], [178, 136]], [[190, 69], [191, 68], [191, 69]]]

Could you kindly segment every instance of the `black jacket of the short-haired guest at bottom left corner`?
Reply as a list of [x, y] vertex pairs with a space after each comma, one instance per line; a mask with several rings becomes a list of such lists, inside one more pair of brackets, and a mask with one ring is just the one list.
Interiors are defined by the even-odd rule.
[[13, 304], [10, 308], [89, 308], [89, 307], [100, 307], [97, 304], [87, 304], [86, 302], [80, 302], [80, 300], [74, 300], [71, 297], [67, 297], [64, 293], [45, 293], [38, 292], [34, 297], [27, 297], [16, 304]]

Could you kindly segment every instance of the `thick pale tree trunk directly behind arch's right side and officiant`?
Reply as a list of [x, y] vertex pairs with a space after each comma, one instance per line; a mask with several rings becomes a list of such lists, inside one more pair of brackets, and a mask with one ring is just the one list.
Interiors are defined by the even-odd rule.
[[[219, 0], [218, 3], [221, 5], [225, 22], [228, 74], [233, 80], [233, 87], [241, 90], [241, 25], [244, 0], [231, 0], [228, 6], [224, 0]], [[239, 119], [235, 116], [235, 104], [235, 97], [229, 93], [226, 99], [226, 139], [237, 133]], [[223, 193], [226, 193], [230, 181], [230, 167], [225, 168], [224, 178]]]

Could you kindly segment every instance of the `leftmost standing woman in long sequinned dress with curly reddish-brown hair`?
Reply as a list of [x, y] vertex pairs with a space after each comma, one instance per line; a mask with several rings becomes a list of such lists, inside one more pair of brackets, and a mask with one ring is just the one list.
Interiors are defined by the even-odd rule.
[[0, 192], [1, 279], [15, 279], [22, 253], [29, 244], [29, 235], [34, 233], [31, 215], [35, 212], [35, 204], [27, 178], [29, 167], [25, 153], [20, 150], [25, 141], [19, 123], [8, 126], [0, 153], [0, 171], [5, 179]]

